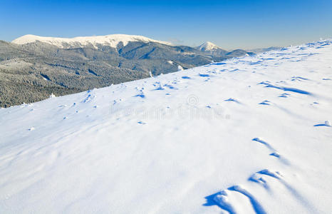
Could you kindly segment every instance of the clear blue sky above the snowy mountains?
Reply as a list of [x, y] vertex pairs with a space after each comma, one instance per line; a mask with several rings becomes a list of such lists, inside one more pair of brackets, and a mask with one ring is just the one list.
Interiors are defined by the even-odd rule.
[[25, 34], [133, 34], [224, 49], [287, 46], [332, 37], [332, 0], [0, 0], [0, 39]]

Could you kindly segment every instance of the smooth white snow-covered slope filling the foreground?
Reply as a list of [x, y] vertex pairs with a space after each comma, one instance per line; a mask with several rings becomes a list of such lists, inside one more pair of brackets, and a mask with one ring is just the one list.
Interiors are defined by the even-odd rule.
[[1, 213], [331, 213], [332, 43], [0, 109]]

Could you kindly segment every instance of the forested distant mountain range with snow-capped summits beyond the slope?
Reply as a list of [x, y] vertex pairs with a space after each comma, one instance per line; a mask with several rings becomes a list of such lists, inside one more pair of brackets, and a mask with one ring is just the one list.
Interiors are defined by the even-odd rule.
[[0, 41], [0, 107], [110, 86], [150, 75], [253, 55], [226, 51], [211, 42], [175, 46], [144, 36], [73, 39], [26, 35]]

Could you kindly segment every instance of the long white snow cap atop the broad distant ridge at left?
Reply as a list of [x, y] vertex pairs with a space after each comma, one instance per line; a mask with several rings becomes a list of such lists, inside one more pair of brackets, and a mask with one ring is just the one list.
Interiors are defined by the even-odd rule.
[[36, 41], [41, 41], [47, 44], [52, 44], [58, 46], [59, 48], [70, 48], [70, 47], [84, 47], [87, 45], [92, 45], [97, 47], [97, 44], [104, 46], [111, 46], [116, 48], [120, 42], [123, 42], [123, 46], [126, 46], [130, 41], [142, 41], [145, 43], [148, 42], [157, 42], [160, 44], [172, 45], [167, 41], [157, 41], [154, 39], [149, 39], [145, 36], [133, 36], [125, 34], [112, 34], [107, 36], [79, 36], [75, 38], [56, 38], [56, 37], [45, 37], [45, 36], [35, 36], [35, 35], [25, 35], [21, 36], [14, 41], [11, 41], [14, 44], [29, 44]]

